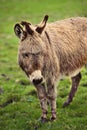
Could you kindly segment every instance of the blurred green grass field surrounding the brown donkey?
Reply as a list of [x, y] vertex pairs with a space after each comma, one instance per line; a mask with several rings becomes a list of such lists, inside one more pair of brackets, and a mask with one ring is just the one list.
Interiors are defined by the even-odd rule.
[[[87, 16], [87, 0], [0, 0], [0, 130], [86, 130], [87, 72], [82, 70], [73, 103], [62, 105], [70, 91], [70, 80], [60, 81], [57, 120], [39, 122], [41, 109], [36, 90], [17, 64], [18, 39], [13, 27], [21, 20], [39, 23], [48, 14], [49, 22]], [[50, 116], [50, 112], [48, 114]]]

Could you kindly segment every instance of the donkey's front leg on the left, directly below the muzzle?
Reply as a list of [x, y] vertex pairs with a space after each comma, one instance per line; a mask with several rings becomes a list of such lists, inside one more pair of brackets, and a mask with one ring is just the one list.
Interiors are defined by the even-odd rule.
[[45, 122], [47, 118], [47, 100], [46, 100], [46, 89], [44, 85], [36, 86], [37, 94], [40, 100], [41, 108], [42, 108], [42, 116], [41, 121]]

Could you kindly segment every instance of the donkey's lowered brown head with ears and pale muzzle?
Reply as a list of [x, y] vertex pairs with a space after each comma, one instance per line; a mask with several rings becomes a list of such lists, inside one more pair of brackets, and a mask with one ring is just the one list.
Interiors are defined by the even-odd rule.
[[42, 22], [33, 26], [31, 23], [22, 21], [14, 26], [14, 32], [20, 39], [18, 62], [34, 85], [43, 82], [42, 70], [44, 68], [44, 57], [46, 45], [41, 34], [46, 26], [48, 16]]

